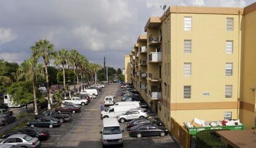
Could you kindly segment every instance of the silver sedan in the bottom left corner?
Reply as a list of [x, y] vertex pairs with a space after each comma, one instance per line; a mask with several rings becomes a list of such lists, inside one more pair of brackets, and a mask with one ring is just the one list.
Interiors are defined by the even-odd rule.
[[2, 139], [0, 144], [10, 144], [19, 147], [39, 147], [40, 141], [38, 138], [32, 138], [27, 134], [12, 134], [6, 139]]

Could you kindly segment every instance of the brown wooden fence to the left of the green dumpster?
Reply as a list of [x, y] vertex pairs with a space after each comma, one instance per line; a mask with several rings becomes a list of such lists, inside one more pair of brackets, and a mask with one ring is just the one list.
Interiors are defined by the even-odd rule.
[[189, 132], [173, 118], [171, 118], [171, 133], [173, 133], [173, 136], [179, 141], [182, 147], [190, 148], [191, 136]]

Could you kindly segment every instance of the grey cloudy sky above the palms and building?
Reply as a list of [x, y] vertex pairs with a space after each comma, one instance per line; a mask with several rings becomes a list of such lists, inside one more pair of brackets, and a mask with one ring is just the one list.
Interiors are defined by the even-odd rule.
[[151, 15], [160, 6], [244, 7], [255, 0], [0, 0], [0, 59], [22, 62], [30, 46], [48, 39], [55, 50], [77, 49], [90, 62], [124, 67]]

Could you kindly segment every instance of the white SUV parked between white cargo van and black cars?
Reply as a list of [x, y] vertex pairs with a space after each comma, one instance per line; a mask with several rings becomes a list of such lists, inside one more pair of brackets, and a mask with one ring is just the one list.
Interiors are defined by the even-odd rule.
[[121, 123], [129, 120], [134, 120], [135, 118], [148, 118], [147, 110], [143, 108], [130, 109], [126, 113], [117, 116], [117, 120]]

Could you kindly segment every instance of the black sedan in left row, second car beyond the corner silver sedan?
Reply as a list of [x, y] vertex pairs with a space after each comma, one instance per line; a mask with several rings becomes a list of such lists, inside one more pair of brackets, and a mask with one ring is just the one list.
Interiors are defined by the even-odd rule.
[[61, 121], [52, 117], [42, 117], [35, 121], [30, 121], [27, 126], [40, 127], [40, 128], [54, 128], [61, 126]]

